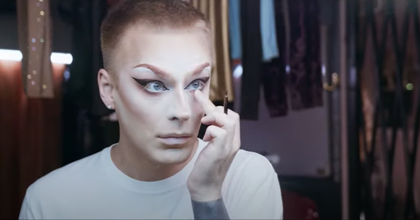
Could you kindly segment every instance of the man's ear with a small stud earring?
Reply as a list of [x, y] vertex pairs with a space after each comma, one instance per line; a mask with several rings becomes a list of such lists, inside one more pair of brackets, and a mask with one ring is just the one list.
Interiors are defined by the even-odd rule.
[[115, 109], [115, 102], [113, 97], [113, 90], [115, 88], [113, 79], [105, 69], [100, 69], [98, 72], [99, 94], [102, 102], [106, 107]]

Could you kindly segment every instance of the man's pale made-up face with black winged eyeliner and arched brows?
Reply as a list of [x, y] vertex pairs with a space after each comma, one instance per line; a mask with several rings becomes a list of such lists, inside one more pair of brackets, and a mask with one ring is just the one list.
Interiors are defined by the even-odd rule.
[[200, 29], [134, 26], [123, 37], [113, 62], [118, 80], [108, 96], [102, 89], [102, 100], [115, 107], [121, 138], [148, 160], [176, 164], [189, 158], [204, 116], [194, 91], [209, 94], [210, 48]]

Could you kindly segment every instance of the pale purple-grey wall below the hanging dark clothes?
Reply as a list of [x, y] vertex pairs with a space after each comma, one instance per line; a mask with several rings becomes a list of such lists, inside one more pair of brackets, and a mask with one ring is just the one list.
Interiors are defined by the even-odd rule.
[[[240, 80], [234, 79], [235, 109], [240, 106]], [[241, 120], [241, 149], [277, 154], [279, 174], [323, 177], [330, 172], [327, 110], [324, 106], [292, 111], [270, 118], [263, 91], [260, 92], [258, 120]], [[290, 105], [289, 105], [290, 108]]]

